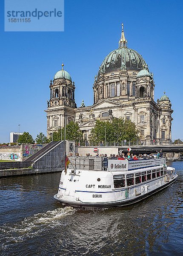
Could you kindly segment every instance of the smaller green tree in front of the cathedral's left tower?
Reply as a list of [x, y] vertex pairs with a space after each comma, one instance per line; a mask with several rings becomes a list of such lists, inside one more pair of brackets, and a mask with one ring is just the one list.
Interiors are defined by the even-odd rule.
[[[57, 132], [53, 133], [53, 140], [64, 140], [65, 129], [61, 128]], [[83, 133], [80, 131], [79, 125], [71, 121], [66, 125], [66, 140], [75, 140], [76, 143], [83, 142]]]

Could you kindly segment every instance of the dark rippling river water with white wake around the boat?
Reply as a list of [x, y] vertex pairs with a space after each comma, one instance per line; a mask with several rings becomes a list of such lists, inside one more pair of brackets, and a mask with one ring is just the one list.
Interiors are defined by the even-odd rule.
[[183, 161], [176, 182], [130, 207], [54, 201], [60, 173], [0, 179], [0, 256], [183, 255]]

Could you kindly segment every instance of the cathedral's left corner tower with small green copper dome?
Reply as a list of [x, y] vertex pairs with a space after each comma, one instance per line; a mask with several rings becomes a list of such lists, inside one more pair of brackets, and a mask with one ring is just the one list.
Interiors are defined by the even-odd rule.
[[54, 131], [64, 127], [65, 122], [74, 121], [77, 108], [74, 91], [75, 85], [69, 73], [63, 69], [59, 70], [50, 80], [50, 99], [47, 102], [47, 137], [52, 137]]

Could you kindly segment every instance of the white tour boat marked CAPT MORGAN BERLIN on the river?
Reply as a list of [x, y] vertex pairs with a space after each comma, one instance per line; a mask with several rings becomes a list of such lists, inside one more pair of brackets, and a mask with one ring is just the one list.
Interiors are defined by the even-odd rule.
[[[177, 178], [166, 159], [105, 160], [103, 157], [69, 157], [54, 198], [80, 208], [126, 206], [166, 188]], [[108, 167], [107, 167], [108, 162]]]

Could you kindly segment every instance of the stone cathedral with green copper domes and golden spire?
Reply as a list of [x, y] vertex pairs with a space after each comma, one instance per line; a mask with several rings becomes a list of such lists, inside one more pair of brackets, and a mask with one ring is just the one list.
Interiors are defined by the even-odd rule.
[[171, 140], [172, 105], [165, 93], [154, 101], [154, 86], [153, 73], [142, 55], [127, 47], [122, 24], [118, 49], [106, 56], [94, 77], [92, 106], [83, 101], [77, 108], [76, 87], [64, 64], [50, 81], [47, 137], [74, 121], [88, 140], [96, 120], [122, 117], [135, 123], [141, 140]]

